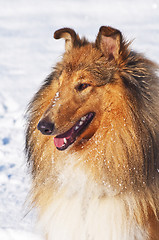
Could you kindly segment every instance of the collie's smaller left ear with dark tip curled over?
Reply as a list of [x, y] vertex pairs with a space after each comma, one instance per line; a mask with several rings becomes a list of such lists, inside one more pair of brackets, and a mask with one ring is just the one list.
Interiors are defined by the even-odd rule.
[[71, 28], [61, 28], [54, 33], [55, 39], [64, 38], [65, 39], [65, 49], [66, 52], [70, 51], [76, 46], [78, 42], [78, 35]]

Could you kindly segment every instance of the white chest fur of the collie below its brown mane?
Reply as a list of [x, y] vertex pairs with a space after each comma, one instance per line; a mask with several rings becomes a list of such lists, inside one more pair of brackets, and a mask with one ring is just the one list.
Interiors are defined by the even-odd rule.
[[84, 173], [69, 170], [60, 175], [61, 188], [39, 221], [47, 240], [147, 239], [121, 198], [101, 197]]

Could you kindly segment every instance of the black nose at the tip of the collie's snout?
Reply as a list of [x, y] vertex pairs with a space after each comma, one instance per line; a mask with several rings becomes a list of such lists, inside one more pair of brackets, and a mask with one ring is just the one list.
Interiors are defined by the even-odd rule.
[[51, 135], [54, 131], [54, 124], [47, 119], [42, 119], [37, 126], [38, 130], [44, 135]]

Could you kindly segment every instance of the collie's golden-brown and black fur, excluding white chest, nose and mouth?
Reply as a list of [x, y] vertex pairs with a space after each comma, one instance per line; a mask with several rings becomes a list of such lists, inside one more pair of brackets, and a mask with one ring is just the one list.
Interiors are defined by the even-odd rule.
[[[58, 191], [58, 173], [78, 152], [79, 167], [103, 189], [111, 186], [127, 215], [148, 231], [159, 232], [159, 114], [157, 66], [129, 48], [120, 31], [101, 27], [95, 43], [72, 29], [55, 32], [65, 38], [66, 52], [28, 109], [26, 153], [33, 176], [32, 202], [41, 215]], [[78, 83], [91, 87], [76, 92]], [[53, 106], [56, 92], [60, 98]], [[38, 122], [54, 122], [54, 135], [70, 129], [88, 112], [96, 115], [66, 151], [58, 151], [52, 136], [37, 130]], [[53, 163], [54, 162], [54, 163]], [[44, 194], [45, 193], [45, 194]], [[56, 196], [56, 194], [55, 194]], [[107, 193], [103, 190], [103, 197]], [[131, 209], [130, 209], [131, 208]], [[133, 212], [133, 214], [132, 214]]]

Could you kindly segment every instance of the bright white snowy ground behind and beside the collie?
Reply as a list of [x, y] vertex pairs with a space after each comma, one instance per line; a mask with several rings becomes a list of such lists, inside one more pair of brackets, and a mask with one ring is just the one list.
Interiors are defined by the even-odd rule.
[[34, 231], [36, 213], [27, 214], [25, 205], [24, 113], [64, 50], [53, 32], [67, 26], [94, 40], [101, 25], [120, 29], [159, 63], [159, 0], [0, 0], [1, 240], [42, 239]]

